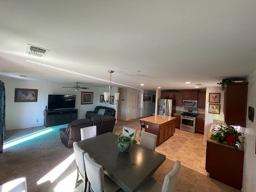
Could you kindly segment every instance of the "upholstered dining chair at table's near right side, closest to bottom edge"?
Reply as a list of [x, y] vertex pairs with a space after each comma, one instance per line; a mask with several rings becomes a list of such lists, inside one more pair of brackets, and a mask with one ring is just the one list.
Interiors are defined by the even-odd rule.
[[151, 177], [138, 192], [174, 192], [179, 172], [180, 161], [176, 160], [172, 171], [165, 176], [163, 184]]

